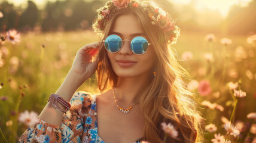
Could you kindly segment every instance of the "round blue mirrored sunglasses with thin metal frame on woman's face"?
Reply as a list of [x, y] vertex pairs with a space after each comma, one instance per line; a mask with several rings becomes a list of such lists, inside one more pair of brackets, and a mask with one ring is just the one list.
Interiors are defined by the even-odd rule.
[[[109, 35], [103, 40], [106, 50], [111, 53], [118, 52], [123, 45], [123, 41], [129, 40], [122, 40], [118, 35]], [[151, 45], [151, 43], [148, 43], [147, 39], [142, 36], [136, 36], [130, 41], [130, 49], [137, 55], [144, 54], [148, 49], [148, 45]]]

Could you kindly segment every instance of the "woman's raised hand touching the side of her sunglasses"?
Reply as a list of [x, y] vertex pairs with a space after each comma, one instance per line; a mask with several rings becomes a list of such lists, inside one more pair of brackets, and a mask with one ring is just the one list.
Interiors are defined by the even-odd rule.
[[[84, 83], [96, 71], [97, 52], [99, 50], [99, 42], [89, 43], [77, 51], [75, 60], [73, 61], [69, 73], [79, 76], [81, 82]], [[96, 56], [95, 56], [96, 55]], [[95, 56], [95, 57], [94, 57]]]

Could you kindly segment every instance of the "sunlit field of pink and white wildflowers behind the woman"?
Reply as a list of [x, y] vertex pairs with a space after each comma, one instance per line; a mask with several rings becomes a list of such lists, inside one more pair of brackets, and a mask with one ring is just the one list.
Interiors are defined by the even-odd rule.
[[[0, 142], [17, 142], [65, 79], [78, 49], [97, 41], [91, 30], [16, 32], [1, 33]], [[181, 31], [173, 48], [191, 74], [184, 80], [205, 119], [205, 142], [256, 142], [256, 35]], [[97, 92], [95, 75], [78, 90]]]

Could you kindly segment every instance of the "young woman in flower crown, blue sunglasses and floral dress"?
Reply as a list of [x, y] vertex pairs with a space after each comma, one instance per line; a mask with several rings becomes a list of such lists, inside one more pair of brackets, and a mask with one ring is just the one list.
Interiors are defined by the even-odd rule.
[[[112, 0], [97, 13], [100, 42], [77, 52], [19, 142], [196, 142], [200, 115], [182, 80], [188, 73], [170, 47], [179, 36], [175, 21], [153, 1]], [[75, 92], [95, 71], [104, 92]], [[163, 122], [175, 135], [165, 136]]]

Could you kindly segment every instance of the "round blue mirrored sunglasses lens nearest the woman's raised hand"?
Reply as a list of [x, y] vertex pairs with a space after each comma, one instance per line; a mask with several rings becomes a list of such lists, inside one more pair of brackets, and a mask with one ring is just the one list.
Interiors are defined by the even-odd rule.
[[117, 52], [122, 46], [122, 40], [117, 35], [109, 35], [105, 39], [105, 47], [109, 52]]

